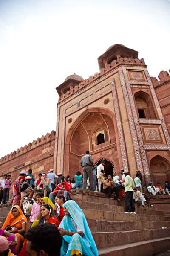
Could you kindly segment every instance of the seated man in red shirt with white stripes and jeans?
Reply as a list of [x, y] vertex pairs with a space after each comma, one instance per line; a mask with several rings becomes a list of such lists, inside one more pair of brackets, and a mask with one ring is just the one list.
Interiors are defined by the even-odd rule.
[[61, 177], [61, 183], [57, 185], [57, 187], [53, 190], [53, 192], [50, 193], [50, 200], [55, 204], [55, 197], [57, 194], [62, 194], [65, 197], [65, 201], [71, 200], [71, 184], [65, 181], [65, 177]]

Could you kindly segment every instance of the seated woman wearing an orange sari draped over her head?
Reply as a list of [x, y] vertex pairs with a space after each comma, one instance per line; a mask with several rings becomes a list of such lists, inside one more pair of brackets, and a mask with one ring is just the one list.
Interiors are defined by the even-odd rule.
[[24, 242], [23, 235], [27, 231], [27, 218], [23, 214], [22, 210], [18, 205], [14, 205], [11, 208], [10, 212], [8, 213], [8, 216], [6, 217], [6, 221], [4, 222], [2, 229], [8, 229], [10, 233], [14, 233], [17, 235], [18, 243], [15, 247], [15, 253], [16, 255], [18, 255], [20, 245], [22, 245]]

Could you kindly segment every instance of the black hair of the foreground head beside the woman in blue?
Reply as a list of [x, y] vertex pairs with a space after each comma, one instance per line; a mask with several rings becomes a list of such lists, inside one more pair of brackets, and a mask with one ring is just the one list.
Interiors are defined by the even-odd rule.
[[26, 233], [26, 239], [31, 241], [30, 249], [37, 252], [44, 250], [48, 256], [60, 256], [62, 237], [54, 224], [43, 223], [34, 226]]

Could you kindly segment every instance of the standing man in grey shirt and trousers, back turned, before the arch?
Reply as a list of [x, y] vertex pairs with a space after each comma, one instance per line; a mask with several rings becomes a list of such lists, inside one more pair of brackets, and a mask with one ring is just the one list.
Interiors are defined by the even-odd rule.
[[83, 170], [83, 189], [86, 189], [87, 180], [89, 178], [90, 182], [90, 190], [94, 191], [94, 183], [93, 183], [93, 157], [90, 155], [89, 151], [85, 152], [85, 156], [82, 157], [80, 166], [82, 166]]

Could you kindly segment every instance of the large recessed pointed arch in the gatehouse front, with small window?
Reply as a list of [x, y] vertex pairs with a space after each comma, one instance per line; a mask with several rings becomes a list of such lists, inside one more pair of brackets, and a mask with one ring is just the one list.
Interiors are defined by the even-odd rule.
[[[65, 173], [68, 173], [68, 170], [70, 175], [75, 175], [78, 170], [82, 172], [79, 164], [87, 150], [93, 156], [94, 163], [106, 160], [106, 175], [113, 175], [115, 166], [119, 170], [118, 138], [114, 119], [113, 113], [104, 108], [88, 109], [77, 118], [66, 137]], [[101, 134], [102, 140], [99, 143]]]

